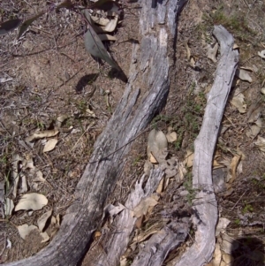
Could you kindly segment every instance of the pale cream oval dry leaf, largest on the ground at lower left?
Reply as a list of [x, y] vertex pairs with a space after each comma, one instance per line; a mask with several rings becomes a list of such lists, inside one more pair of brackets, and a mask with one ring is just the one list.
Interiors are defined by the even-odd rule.
[[20, 209], [42, 209], [45, 205], [47, 205], [48, 199], [42, 195], [37, 193], [25, 194], [19, 200], [18, 205], [15, 208], [15, 211]]

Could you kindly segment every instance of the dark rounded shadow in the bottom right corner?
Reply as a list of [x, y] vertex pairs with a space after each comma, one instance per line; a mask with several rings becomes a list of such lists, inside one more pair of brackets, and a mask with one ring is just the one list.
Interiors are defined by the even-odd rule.
[[264, 244], [261, 239], [244, 237], [235, 239], [231, 243], [231, 266], [263, 266]]

